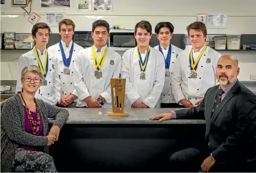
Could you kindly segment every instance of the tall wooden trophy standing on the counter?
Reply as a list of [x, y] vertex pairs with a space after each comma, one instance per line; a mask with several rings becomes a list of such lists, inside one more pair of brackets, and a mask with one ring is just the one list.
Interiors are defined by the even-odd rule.
[[108, 116], [128, 116], [124, 112], [125, 81], [126, 79], [111, 79], [112, 112], [108, 112]]

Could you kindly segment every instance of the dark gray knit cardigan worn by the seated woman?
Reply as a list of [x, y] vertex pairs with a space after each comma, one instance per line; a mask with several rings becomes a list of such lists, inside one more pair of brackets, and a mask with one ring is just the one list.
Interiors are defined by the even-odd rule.
[[55, 118], [54, 125], [61, 128], [69, 116], [66, 109], [35, 99], [42, 118], [43, 137], [28, 134], [25, 132], [24, 105], [18, 94], [19, 92], [4, 103], [1, 112], [1, 172], [12, 171], [12, 160], [19, 145], [41, 146], [45, 153], [49, 153], [46, 137], [49, 132], [48, 118]]

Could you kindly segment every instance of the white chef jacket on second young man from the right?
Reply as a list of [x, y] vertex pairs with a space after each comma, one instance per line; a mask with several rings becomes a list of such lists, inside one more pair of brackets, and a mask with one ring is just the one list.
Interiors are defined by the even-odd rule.
[[[157, 45], [154, 48], [158, 50], [159, 46]], [[166, 49], [164, 49], [161, 46], [161, 49], [162, 49], [162, 53], [164, 54], [164, 57], [166, 59], [169, 46], [167, 46]], [[182, 51], [182, 49], [178, 48], [177, 46], [171, 45], [171, 62], [169, 65], [169, 69], [167, 70], [167, 71], [169, 71], [170, 76], [165, 76], [164, 89], [162, 89], [162, 93], [161, 93], [161, 97], [160, 97], [161, 103], [164, 103], [164, 104], [176, 103], [174, 95], [172, 94], [171, 76], [172, 76], [173, 67], [174, 67], [174, 65], [176, 65], [176, 59], [178, 58], [178, 54], [181, 51]]]

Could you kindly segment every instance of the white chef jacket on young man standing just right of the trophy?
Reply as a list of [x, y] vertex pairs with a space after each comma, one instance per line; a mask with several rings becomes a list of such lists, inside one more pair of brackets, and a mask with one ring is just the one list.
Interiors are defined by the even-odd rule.
[[[145, 54], [141, 54], [144, 61]], [[159, 108], [159, 98], [164, 88], [165, 61], [157, 49], [150, 48], [145, 79], [140, 79], [141, 67], [137, 56], [137, 47], [129, 49], [122, 55], [121, 78], [126, 79], [125, 96], [131, 107], [135, 101], [144, 102], [150, 108]]]

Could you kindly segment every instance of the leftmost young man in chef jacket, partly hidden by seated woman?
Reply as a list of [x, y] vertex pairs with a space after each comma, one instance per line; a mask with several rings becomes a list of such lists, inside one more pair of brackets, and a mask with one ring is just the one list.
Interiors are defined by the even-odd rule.
[[50, 27], [39, 22], [32, 28], [32, 38], [35, 41], [34, 48], [22, 54], [19, 58], [16, 92], [22, 91], [21, 71], [25, 66], [36, 65], [41, 69], [44, 80], [36, 91], [35, 98], [42, 99], [51, 105], [61, 101], [61, 81], [58, 74], [58, 62], [54, 55], [48, 54], [46, 45], [49, 40]]

